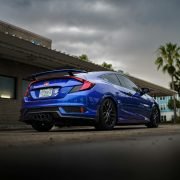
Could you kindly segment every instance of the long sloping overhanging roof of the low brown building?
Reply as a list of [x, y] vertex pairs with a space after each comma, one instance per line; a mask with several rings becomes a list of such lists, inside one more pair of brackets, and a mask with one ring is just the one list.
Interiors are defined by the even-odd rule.
[[[86, 71], [107, 71], [106, 68], [100, 65], [82, 61], [75, 56], [38, 46], [29, 41], [4, 33], [0, 33], [0, 60], [1, 59], [9, 59], [47, 70], [74, 68]], [[151, 95], [154, 96], [172, 96], [176, 93], [170, 89], [133, 76], [129, 76], [129, 78], [139, 87], [150, 88]]]

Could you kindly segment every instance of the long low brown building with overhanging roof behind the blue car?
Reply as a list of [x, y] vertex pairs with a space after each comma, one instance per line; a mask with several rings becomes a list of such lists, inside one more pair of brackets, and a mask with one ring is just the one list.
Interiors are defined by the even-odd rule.
[[[1, 22], [2, 24], [2, 22]], [[2, 26], [6, 26], [1, 25]], [[11, 26], [13, 27], [13, 26]], [[27, 32], [19, 37], [20, 32]], [[18, 123], [21, 100], [28, 82], [25, 77], [32, 73], [51, 69], [75, 68], [86, 71], [105, 71], [106, 68], [78, 59], [77, 57], [50, 49], [49, 45], [39, 45], [31, 41], [31, 33], [16, 27], [16, 33], [1, 30], [0, 32], [0, 125]], [[7, 33], [8, 32], [8, 33]], [[15, 31], [14, 31], [15, 32]], [[26, 39], [29, 36], [29, 40]], [[36, 35], [38, 42], [42, 36]], [[42, 38], [43, 39], [43, 38]], [[44, 38], [46, 40], [46, 38]], [[42, 41], [45, 42], [45, 41]], [[175, 92], [159, 85], [129, 76], [139, 87], [147, 87], [151, 95], [172, 96]]]

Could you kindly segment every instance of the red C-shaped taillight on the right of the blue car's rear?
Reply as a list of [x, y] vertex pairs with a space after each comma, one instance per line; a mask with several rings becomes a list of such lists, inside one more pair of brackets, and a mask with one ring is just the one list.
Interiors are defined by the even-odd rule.
[[89, 82], [87, 80], [84, 80], [84, 79], [81, 79], [81, 78], [78, 78], [78, 77], [73, 77], [74, 79], [82, 82], [83, 84], [82, 85], [78, 85], [78, 86], [74, 86], [70, 93], [72, 92], [77, 92], [77, 91], [84, 91], [84, 90], [88, 90], [88, 89], [91, 89], [92, 87], [94, 87], [94, 83], [92, 82]]

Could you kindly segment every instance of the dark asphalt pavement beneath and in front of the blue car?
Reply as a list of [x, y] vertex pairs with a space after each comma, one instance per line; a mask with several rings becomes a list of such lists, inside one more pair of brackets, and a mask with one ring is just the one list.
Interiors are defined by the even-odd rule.
[[0, 132], [0, 179], [180, 179], [180, 126]]

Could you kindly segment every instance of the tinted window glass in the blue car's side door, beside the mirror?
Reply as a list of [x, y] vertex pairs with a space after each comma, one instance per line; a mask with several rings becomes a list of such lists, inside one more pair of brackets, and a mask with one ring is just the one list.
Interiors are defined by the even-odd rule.
[[120, 74], [117, 74], [117, 76], [123, 87], [128, 88], [133, 91], [137, 91], [139, 89], [132, 81], [130, 81], [125, 76], [122, 76]]

